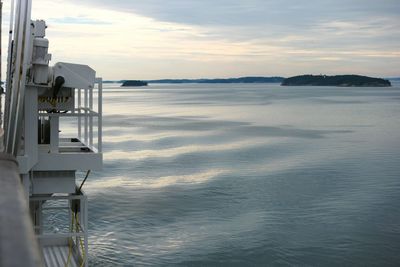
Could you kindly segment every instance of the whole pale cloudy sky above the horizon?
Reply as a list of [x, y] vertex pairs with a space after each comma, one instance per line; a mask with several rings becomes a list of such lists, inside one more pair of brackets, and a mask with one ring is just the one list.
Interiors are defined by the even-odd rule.
[[53, 64], [105, 79], [400, 76], [399, 0], [33, 0], [32, 18]]

